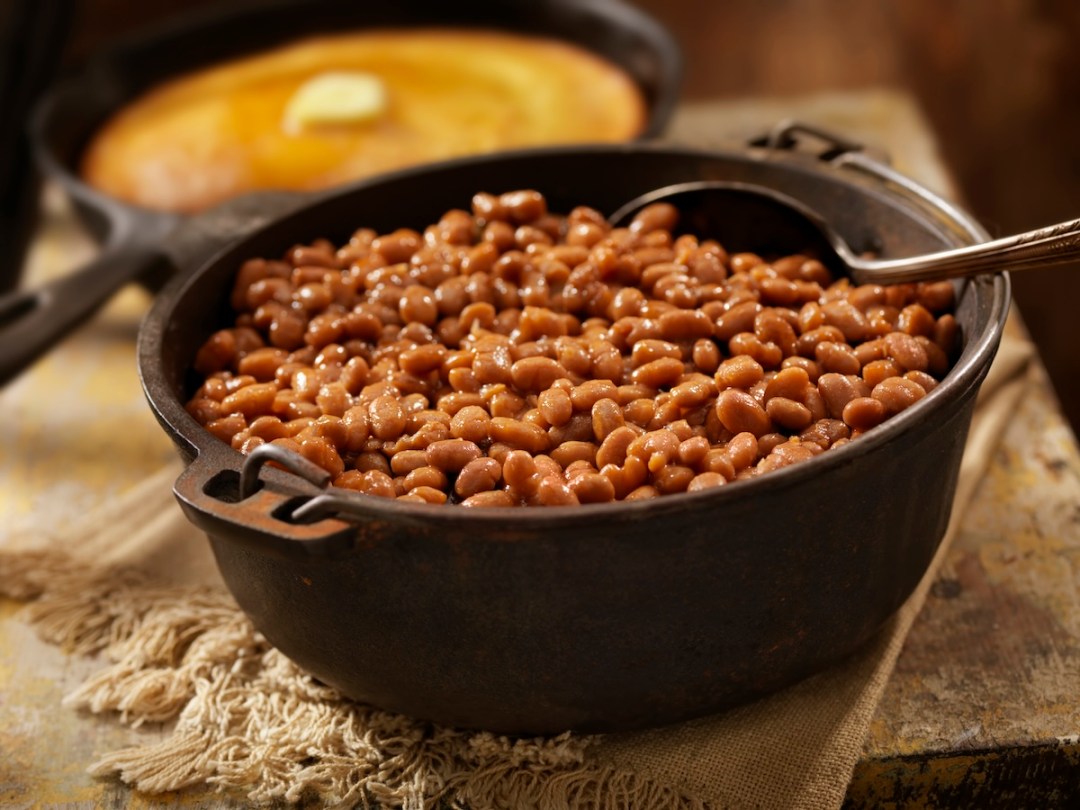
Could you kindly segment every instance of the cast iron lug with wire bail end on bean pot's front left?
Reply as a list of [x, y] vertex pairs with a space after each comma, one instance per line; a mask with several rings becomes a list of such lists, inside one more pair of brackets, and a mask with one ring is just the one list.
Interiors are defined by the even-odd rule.
[[[352, 548], [355, 524], [296, 515], [328, 483], [325, 471], [271, 444], [244, 457], [240, 471], [230, 456], [224, 444], [220, 451], [204, 449], [173, 486], [180, 509], [197, 527], [213, 538], [289, 558], [334, 556]], [[268, 469], [270, 461], [287, 472]]]

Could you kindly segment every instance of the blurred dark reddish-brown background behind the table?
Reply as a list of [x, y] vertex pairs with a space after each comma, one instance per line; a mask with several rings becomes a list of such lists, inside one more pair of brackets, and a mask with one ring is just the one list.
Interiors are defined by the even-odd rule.
[[[167, 14], [224, 0], [57, 0], [76, 59]], [[963, 202], [995, 234], [1080, 216], [1076, 0], [631, 0], [687, 57], [687, 98], [893, 86], [923, 107]], [[0, 23], [10, 10], [0, 3]], [[1080, 265], [1014, 276], [1074, 428]]]

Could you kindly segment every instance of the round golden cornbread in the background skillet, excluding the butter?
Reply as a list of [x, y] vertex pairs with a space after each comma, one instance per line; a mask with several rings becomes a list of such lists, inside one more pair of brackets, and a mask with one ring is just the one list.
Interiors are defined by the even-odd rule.
[[[381, 79], [381, 116], [283, 125], [306, 81], [342, 70]], [[247, 191], [318, 190], [464, 154], [629, 140], [645, 120], [630, 76], [576, 45], [386, 29], [305, 39], [154, 87], [106, 122], [81, 168], [125, 202], [192, 213]]]

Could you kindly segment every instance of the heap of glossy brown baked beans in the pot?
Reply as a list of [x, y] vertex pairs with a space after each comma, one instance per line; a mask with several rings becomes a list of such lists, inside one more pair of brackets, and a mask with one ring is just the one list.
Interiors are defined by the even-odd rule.
[[612, 229], [536, 191], [480, 193], [422, 233], [251, 259], [188, 411], [282, 444], [338, 487], [467, 507], [656, 498], [858, 438], [958, 349], [948, 282], [852, 286], [820, 261]]

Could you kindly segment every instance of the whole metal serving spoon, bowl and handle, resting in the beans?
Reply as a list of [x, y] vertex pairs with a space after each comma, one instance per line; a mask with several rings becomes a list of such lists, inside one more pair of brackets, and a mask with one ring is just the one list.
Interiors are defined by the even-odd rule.
[[767, 252], [795, 246], [819, 252], [856, 284], [902, 284], [1002, 270], [1029, 270], [1080, 259], [1080, 219], [1051, 225], [976, 245], [897, 259], [866, 259], [819, 214], [787, 194], [762, 186], [723, 180], [684, 183], [637, 197], [609, 217], [630, 225], [652, 203], [679, 211], [679, 228], [739, 249]]

